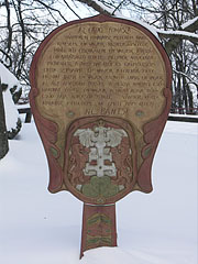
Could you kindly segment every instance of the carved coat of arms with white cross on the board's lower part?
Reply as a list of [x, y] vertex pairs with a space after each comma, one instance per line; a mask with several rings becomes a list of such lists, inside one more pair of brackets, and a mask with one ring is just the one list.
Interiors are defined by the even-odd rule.
[[72, 134], [65, 175], [74, 194], [87, 202], [107, 204], [129, 191], [135, 178], [135, 150], [128, 132], [103, 118]]

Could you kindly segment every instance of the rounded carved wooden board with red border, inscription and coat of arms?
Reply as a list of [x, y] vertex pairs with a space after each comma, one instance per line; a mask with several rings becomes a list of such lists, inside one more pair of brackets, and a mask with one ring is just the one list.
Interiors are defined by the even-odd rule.
[[97, 15], [53, 31], [30, 76], [50, 191], [68, 189], [97, 205], [150, 193], [170, 76], [161, 43], [134, 22]]

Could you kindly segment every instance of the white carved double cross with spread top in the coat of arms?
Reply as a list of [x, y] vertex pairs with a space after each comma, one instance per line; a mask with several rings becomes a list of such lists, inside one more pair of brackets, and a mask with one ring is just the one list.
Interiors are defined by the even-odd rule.
[[84, 168], [86, 176], [117, 176], [111, 147], [118, 146], [122, 138], [128, 136], [124, 130], [100, 125], [94, 130], [79, 129], [74, 135], [79, 136], [80, 144], [90, 147], [89, 162]]

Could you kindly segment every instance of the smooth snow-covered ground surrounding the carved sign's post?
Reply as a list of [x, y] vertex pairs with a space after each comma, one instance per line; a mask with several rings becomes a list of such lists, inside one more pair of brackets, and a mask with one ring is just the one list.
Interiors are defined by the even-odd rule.
[[48, 170], [34, 123], [0, 161], [0, 263], [197, 264], [198, 124], [167, 122], [153, 164], [154, 191], [117, 202], [118, 248], [79, 261], [82, 202], [47, 191]]

